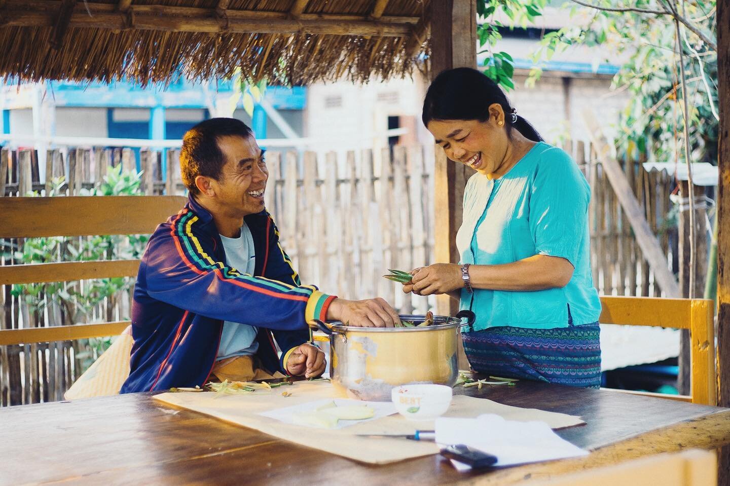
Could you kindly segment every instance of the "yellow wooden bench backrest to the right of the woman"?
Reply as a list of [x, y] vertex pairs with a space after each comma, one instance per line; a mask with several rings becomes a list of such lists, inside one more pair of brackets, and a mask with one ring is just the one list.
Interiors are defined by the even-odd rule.
[[691, 335], [691, 396], [639, 393], [661, 398], [717, 404], [715, 321], [712, 301], [704, 298], [602, 296], [602, 324], [650, 325], [687, 329]]

